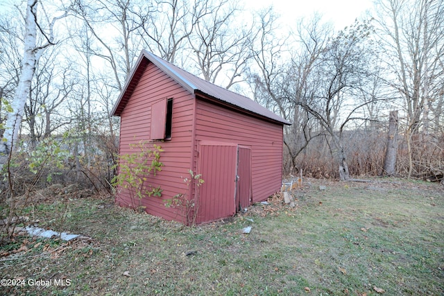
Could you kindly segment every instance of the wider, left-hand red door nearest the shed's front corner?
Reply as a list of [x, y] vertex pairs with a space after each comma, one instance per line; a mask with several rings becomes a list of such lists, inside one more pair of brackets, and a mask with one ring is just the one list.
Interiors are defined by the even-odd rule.
[[200, 143], [198, 172], [205, 181], [197, 190], [197, 223], [234, 215], [237, 145], [232, 143]]

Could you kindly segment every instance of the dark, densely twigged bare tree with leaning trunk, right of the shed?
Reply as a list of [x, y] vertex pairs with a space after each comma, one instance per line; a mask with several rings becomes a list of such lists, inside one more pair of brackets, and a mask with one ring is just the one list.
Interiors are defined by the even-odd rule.
[[316, 67], [311, 71], [311, 79], [318, 87], [308, 96], [296, 101], [309, 112], [330, 136], [332, 155], [339, 166], [339, 177], [350, 177], [347, 162], [347, 147], [343, 136], [348, 124], [355, 120], [367, 120], [362, 109], [372, 101], [357, 101], [363, 90], [361, 80], [370, 73], [366, 71], [371, 56], [368, 55], [368, 24], [355, 23], [331, 38], [318, 58]]

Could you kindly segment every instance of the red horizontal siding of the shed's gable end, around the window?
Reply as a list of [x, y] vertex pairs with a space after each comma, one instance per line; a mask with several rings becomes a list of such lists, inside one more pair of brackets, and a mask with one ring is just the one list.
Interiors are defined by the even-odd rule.
[[[137, 87], [121, 112], [120, 154], [132, 153], [131, 143], [150, 139], [151, 104], [173, 98], [173, 122], [171, 141], [157, 142], [164, 152], [160, 161], [162, 171], [148, 180], [153, 186], [163, 189], [161, 198], [144, 198], [142, 205], [149, 214], [169, 220], [181, 220], [181, 216], [164, 206], [164, 200], [178, 193], [187, 193], [182, 177], [188, 177], [191, 159], [192, 122], [194, 96], [173, 79], [149, 63]], [[127, 191], [118, 189], [117, 202], [123, 206], [132, 204]]]

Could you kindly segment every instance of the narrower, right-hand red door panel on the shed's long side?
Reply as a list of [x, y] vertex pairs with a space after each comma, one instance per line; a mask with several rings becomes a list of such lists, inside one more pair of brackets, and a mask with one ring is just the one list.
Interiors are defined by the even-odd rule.
[[237, 188], [236, 210], [242, 210], [251, 204], [251, 149], [239, 146], [237, 149]]

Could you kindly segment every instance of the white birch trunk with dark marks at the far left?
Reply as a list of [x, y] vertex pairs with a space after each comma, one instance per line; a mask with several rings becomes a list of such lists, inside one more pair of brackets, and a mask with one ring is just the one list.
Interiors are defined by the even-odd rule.
[[[22, 73], [19, 77], [19, 83], [15, 90], [14, 99], [11, 103], [12, 112], [8, 112], [8, 119], [6, 119], [5, 132], [3, 134], [3, 143], [0, 145], [0, 153], [8, 155], [14, 149], [19, 136], [19, 129], [22, 123], [24, 107], [28, 99], [29, 88], [31, 87], [31, 80], [33, 80], [36, 58], [36, 40], [37, 40], [37, 26], [35, 24], [34, 16], [37, 12], [37, 1], [28, 0], [26, 5], [26, 21], [25, 21], [25, 40], [24, 40], [24, 55], [22, 60]], [[3, 157], [0, 161], [0, 167], [6, 163], [6, 158]]]

